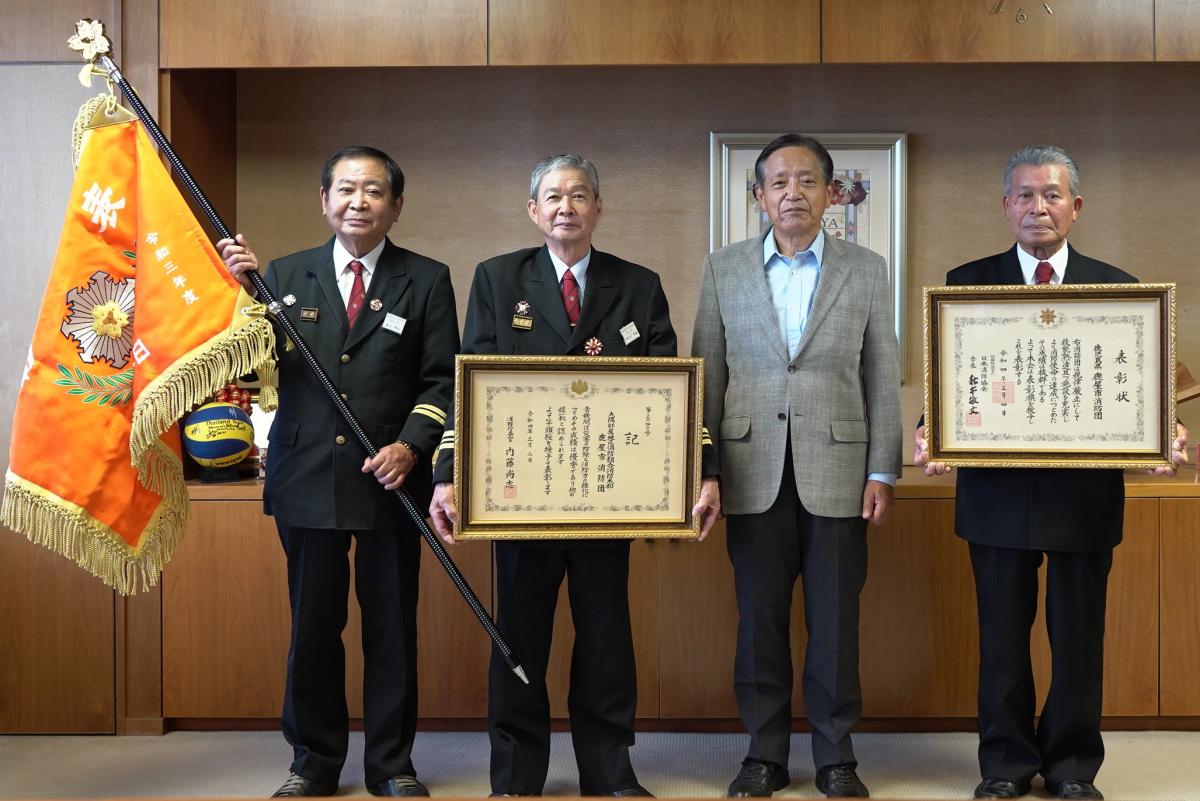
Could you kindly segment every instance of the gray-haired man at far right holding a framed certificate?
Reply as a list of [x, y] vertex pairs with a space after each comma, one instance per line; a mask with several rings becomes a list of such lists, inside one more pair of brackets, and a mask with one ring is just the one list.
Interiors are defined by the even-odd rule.
[[[947, 284], [1134, 283], [1112, 265], [1067, 245], [1079, 218], [1079, 169], [1060, 147], [1022, 147], [1004, 169], [1004, 217], [1016, 245], [965, 264]], [[1187, 432], [1180, 426], [1175, 450]], [[1182, 453], [1175, 453], [1183, 460]], [[914, 462], [930, 463], [925, 428]], [[1169, 472], [1160, 469], [1159, 471]], [[964, 468], [954, 526], [971, 549], [979, 613], [979, 770], [977, 799], [1030, 791], [1036, 773], [1061, 799], [1102, 799], [1100, 694], [1104, 607], [1112, 548], [1121, 542], [1124, 480], [1120, 470]], [[1054, 675], [1034, 727], [1030, 633], [1037, 616], [1038, 567], [1046, 561], [1046, 628]]]

